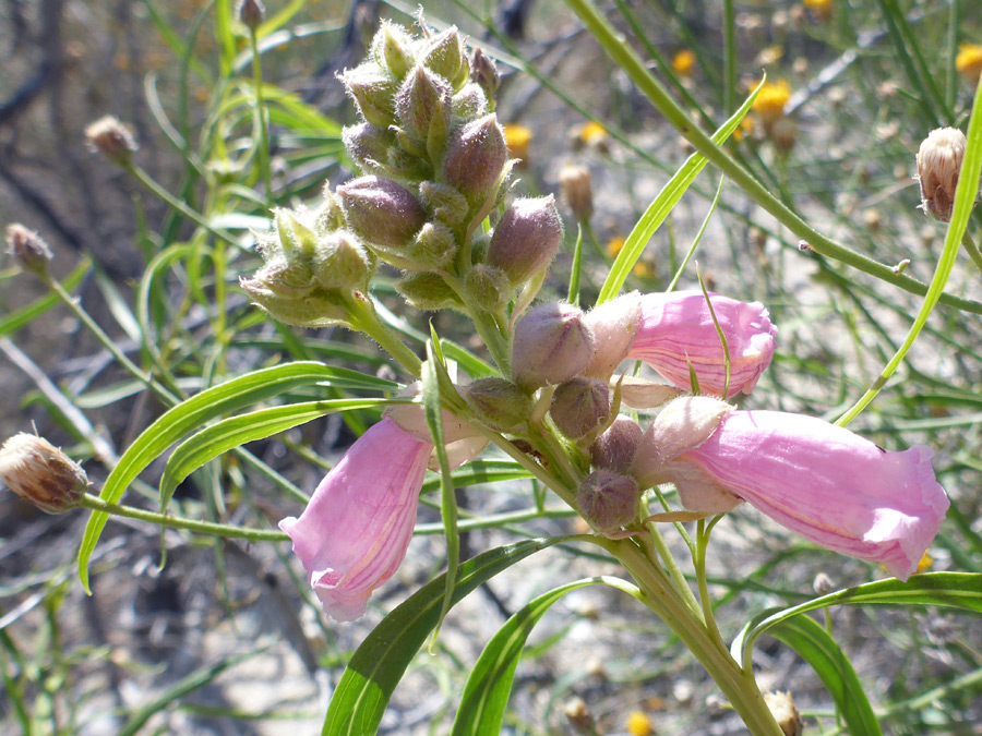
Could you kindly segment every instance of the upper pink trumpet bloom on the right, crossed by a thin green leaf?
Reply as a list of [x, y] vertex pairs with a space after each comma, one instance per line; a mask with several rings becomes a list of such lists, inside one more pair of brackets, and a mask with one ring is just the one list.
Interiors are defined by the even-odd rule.
[[[739, 302], [714, 293], [709, 300], [730, 352], [727, 394], [750, 394], [770, 365], [777, 327], [770, 324], [767, 310], [759, 302]], [[722, 396], [727, 379], [724, 353], [702, 291], [643, 295], [642, 324], [627, 358], [645, 361], [683, 390], [691, 388], [691, 363], [699, 391]]]

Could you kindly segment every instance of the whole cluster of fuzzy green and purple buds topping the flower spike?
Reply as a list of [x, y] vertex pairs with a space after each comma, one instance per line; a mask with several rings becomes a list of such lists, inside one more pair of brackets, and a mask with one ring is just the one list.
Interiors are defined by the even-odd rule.
[[[402, 269], [397, 288], [419, 309], [499, 313], [548, 268], [563, 226], [552, 196], [518, 198], [505, 207], [514, 161], [493, 112], [494, 63], [480, 49], [468, 57], [455, 27], [424, 28], [422, 38], [414, 38], [383, 23], [368, 59], [340, 80], [363, 118], [343, 132], [363, 176], [325, 192], [328, 216], [311, 229]], [[477, 226], [489, 215], [494, 228], [484, 233]], [[261, 240], [263, 255], [280, 260], [282, 249], [268, 242]], [[358, 261], [370, 269], [373, 261], [362, 251]], [[294, 292], [287, 297], [300, 313], [272, 309], [268, 292], [278, 298], [284, 289], [271, 286], [263, 272], [243, 281], [261, 306], [291, 324], [337, 322], [331, 303], [296, 293], [298, 280], [300, 290], [309, 288], [309, 268], [299, 278], [279, 278], [279, 264], [272, 270]]]

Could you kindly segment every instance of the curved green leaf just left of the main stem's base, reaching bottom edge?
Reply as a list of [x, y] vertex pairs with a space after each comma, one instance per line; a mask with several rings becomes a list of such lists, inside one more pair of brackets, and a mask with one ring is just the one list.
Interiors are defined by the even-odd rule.
[[631, 583], [620, 578], [603, 576], [560, 586], [515, 613], [491, 638], [474, 669], [470, 671], [464, 686], [460, 708], [457, 709], [454, 719], [452, 736], [498, 736], [501, 733], [502, 717], [515, 678], [515, 667], [518, 666], [518, 659], [528, 635], [552, 604], [563, 595], [586, 586], [597, 584], [616, 588], [634, 598], [640, 596], [640, 591]]

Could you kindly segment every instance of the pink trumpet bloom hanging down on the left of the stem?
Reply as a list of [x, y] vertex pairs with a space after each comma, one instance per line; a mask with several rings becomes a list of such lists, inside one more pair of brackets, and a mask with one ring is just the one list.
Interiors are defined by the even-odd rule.
[[383, 419], [321, 481], [300, 518], [279, 522], [336, 620], [361, 616], [406, 556], [432, 449]]

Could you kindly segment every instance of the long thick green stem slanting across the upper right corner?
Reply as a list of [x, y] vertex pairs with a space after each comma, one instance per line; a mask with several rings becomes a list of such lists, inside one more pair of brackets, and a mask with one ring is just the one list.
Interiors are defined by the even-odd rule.
[[[829, 258], [851, 266], [864, 274], [909, 291], [924, 295], [927, 285], [909, 276], [895, 274], [886, 264], [869, 258], [840, 243], [823, 236], [812, 228], [798, 214], [792, 212], [780, 200], [775, 197], [754, 176], [735, 160], [685, 113], [672, 99], [661, 83], [648, 71], [644, 61], [632, 46], [601, 15], [591, 0], [565, 0], [566, 4], [579, 16], [586, 28], [594, 35], [604, 51], [625, 71], [627, 76], [648, 97], [651, 104], [666, 119], [675, 126], [709, 161], [722, 171], [726, 177], [740, 186], [754, 202], [774, 215], [786, 228], [805, 241], [810, 249]], [[982, 302], [961, 299], [951, 294], [943, 294], [942, 303], [955, 306], [973, 314], [982, 314]]]

